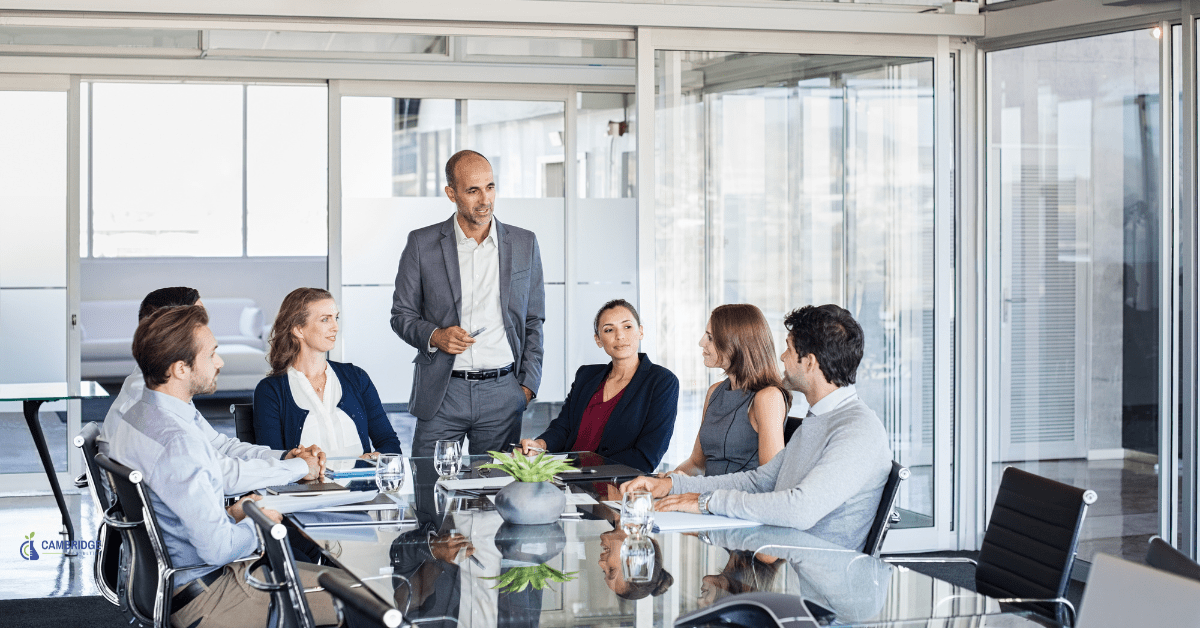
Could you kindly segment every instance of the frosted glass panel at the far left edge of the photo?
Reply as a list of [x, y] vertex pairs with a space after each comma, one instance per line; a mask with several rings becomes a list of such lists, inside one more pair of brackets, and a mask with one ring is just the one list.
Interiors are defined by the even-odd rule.
[[[65, 91], [0, 91], [0, 383], [65, 382]], [[67, 463], [66, 409], [55, 402], [41, 412], [58, 471]], [[12, 439], [0, 472], [43, 473], [22, 405], [0, 403], [0, 424]]]

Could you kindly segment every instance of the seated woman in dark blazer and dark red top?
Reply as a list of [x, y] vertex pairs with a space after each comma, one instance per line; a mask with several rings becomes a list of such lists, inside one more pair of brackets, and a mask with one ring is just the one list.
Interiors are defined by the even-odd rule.
[[624, 299], [606, 303], [593, 327], [612, 361], [580, 366], [558, 418], [521, 448], [526, 455], [595, 451], [649, 473], [674, 432], [679, 378], [638, 353], [642, 322]]

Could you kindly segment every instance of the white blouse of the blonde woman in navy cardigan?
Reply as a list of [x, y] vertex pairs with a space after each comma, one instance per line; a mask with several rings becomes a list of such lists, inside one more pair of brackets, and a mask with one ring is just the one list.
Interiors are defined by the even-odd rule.
[[342, 382], [337, 379], [334, 367], [325, 363], [325, 399], [317, 395], [308, 378], [293, 366], [288, 366], [288, 384], [292, 399], [300, 409], [307, 409], [308, 417], [300, 430], [300, 444], [316, 444], [328, 457], [362, 455], [362, 439], [354, 420], [337, 402], [342, 400]]

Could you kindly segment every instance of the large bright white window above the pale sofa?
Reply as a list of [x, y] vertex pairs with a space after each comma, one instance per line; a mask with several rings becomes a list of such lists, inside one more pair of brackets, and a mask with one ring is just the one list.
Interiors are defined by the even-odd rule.
[[325, 255], [324, 85], [84, 89], [85, 257]]

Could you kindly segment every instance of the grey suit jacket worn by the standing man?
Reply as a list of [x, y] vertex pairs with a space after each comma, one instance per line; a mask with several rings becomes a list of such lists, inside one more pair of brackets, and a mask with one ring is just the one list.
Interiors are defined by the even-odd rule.
[[[430, 336], [462, 321], [462, 279], [452, 220], [450, 216], [408, 234], [391, 298], [391, 328], [416, 348], [408, 412], [419, 419], [431, 419], [438, 412], [454, 369], [454, 355], [427, 351]], [[517, 382], [536, 394], [541, 383], [541, 324], [546, 319], [541, 250], [533, 232], [499, 220], [496, 234], [500, 243], [500, 313], [516, 357]]]

